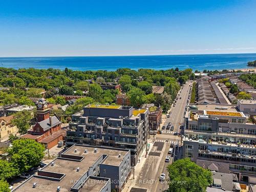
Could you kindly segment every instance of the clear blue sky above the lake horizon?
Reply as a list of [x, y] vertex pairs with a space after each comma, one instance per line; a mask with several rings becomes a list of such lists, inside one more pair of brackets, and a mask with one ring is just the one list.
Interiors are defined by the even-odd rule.
[[4, 1], [0, 56], [256, 52], [256, 1]]

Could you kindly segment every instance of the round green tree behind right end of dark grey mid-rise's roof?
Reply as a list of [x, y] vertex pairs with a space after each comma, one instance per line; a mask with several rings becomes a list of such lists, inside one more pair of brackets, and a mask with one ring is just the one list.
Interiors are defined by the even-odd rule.
[[146, 102], [145, 92], [139, 88], [133, 88], [127, 93], [131, 104], [138, 108], [138, 106]]

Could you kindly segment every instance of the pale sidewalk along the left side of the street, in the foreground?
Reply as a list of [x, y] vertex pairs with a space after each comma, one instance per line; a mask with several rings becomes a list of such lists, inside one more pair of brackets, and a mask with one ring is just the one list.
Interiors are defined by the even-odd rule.
[[[154, 143], [153, 143], [152, 139], [147, 139], [147, 143], [150, 144], [150, 149], [147, 152], [147, 155], [148, 155], [148, 153], [150, 153]], [[145, 155], [146, 155], [146, 147], [144, 148], [143, 152], [141, 153], [141, 156], [139, 157], [139, 162], [134, 167], [134, 179], [133, 179], [133, 169], [132, 169], [131, 175], [128, 178], [127, 183], [124, 185], [124, 188], [122, 189], [123, 192], [128, 192], [131, 190], [132, 187], [135, 186], [135, 181], [138, 178], [140, 171], [146, 162]]]

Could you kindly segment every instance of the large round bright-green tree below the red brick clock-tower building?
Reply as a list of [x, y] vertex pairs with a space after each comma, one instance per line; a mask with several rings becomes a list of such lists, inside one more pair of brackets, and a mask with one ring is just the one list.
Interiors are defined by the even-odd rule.
[[33, 139], [18, 139], [12, 145], [8, 150], [10, 161], [19, 173], [38, 165], [44, 157], [45, 147]]

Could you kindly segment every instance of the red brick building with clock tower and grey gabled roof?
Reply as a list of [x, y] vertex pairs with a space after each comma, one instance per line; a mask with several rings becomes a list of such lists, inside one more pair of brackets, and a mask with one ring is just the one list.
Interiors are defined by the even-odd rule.
[[56, 116], [50, 117], [50, 108], [45, 99], [39, 99], [36, 104], [37, 122], [22, 138], [34, 139], [50, 149], [64, 140], [66, 130], [61, 130], [61, 122]]

